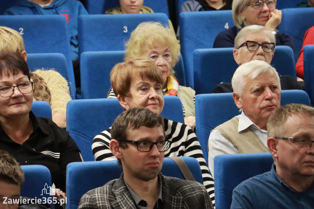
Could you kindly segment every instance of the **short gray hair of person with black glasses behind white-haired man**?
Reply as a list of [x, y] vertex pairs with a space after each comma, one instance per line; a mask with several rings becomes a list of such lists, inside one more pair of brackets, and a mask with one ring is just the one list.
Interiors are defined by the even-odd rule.
[[[268, 30], [268, 28], [266, 28], [265, 26], [262, 25], [249, 25], [244, 27], [243, 29], [241, 29], [239, 31], [239, 33], [236, 35], [235, 38], [235, 49], [238, 49], [239, 46], [244, 43], [244, 37], [246, 37], [247, 35], [251, 34], [251, 33], [257, 33], [257, 32], [261, 32], [263, 30], [266, 30], [269, 34], [269, 38], [270, 38], [270, 42], [271, 43], [276, 43], [276, 38], [275, 35], [273, 35], [273, 32]], [[275, 49], [272, 51], [272, 53], [275, 52]]]

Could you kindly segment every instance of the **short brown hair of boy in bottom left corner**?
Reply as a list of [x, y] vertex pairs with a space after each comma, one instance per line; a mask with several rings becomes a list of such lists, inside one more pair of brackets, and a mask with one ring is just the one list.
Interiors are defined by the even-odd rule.
[[0, 150], [0, 181], [19, 186], [24, 182], [21, 166], [12, 155], [4, 150]]

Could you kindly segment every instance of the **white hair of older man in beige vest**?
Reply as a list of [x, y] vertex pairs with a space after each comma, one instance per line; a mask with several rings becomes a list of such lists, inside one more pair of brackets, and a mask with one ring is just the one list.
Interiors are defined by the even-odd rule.
[[236, 92], [239, 97], [241, 97], [247, 82], [247, 79], [245, 78], [255, 79], [257, 76], [263, 75], [266, 72], [270, 72], [274, 77], [277, 78], [279, 90], [281, 90], [280, 79], [276, 69], [262, 60], [252, 60], [240, 65], [236, 69], [236, 72], [233, 74], [231, 80], [233, 91]]

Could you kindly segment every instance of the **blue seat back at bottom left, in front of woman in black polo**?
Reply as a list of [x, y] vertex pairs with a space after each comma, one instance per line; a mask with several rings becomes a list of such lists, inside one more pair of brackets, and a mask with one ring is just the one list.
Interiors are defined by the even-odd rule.
[[49, 169], [43, 165], [22, 165], [21, 168], [25, 177], [25, 182], [21, 187], [21, 196], [42, 200], [43, 197], [51, 199], [52, 196], [42, 192], [46, 184], [52, 186]]

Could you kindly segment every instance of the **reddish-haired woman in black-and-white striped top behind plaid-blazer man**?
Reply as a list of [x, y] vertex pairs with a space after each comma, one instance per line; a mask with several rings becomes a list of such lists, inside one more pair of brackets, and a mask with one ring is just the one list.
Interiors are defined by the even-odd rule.
[[[165, 54], [169, 53], [166, 51]], [[138, 107], [160, 115], [164, 107], [162, 86], [165, 81], [154, 61], [145, 57], [131, 57], [125, 62], [116, 64], [110, 73], [110, 82], [124, 110]], [[166, 118], [164, 129], [167, 139], [171, 142], [170, 149], [165, 151], [165, 156], [196, 158], [202, 170], [204, 186], [214, 204], [214, 181], [209, 174], [200, 143], [193, 130], [185, 124]], [[109, 149], [110, 140], [111, 127], [95, 136], [92, 144], [95, 160], [117, 159]]]

